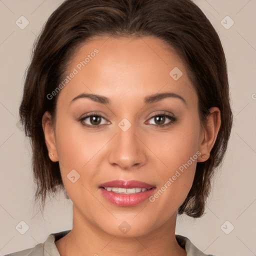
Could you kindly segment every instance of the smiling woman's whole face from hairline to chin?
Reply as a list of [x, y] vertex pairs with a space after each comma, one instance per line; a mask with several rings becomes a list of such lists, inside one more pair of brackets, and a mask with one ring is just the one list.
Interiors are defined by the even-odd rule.
[[[50, 150], [73, 217], [111, 235], [130, 227], [126, 236], [174, 222], [192, 185], [203, 137], [184, 63], [152, 36], [95, 37], [76, 50], [66, 75]], [[112, 196], [100, 187], [112, 180], [153, 188]]]

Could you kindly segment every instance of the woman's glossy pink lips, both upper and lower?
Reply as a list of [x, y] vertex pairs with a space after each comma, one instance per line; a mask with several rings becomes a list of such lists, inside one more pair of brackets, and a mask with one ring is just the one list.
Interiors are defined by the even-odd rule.
[[[132, 194], [122, 194], [115, 193], [113, 191], [107, 191], [103, 187], [121, 187], [121, 188], [146, 188], [148, 190], [144, 192], [132, 193]], [[142, 201], [146, 200], [152, 193], [154, 192], [156, 187], [150, 185], [145, 182], [137, 181], [137, 180], [112, 180], [106, 183], [100, 184], [100, 191], [102, 195], [113, 204], [119, 206], [134, 206]]]

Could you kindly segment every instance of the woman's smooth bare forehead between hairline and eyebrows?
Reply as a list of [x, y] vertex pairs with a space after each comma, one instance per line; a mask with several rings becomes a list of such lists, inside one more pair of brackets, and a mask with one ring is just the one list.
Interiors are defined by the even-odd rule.
[[68, 98], [81, 91], [109, 98], [164, 91], [184, 97], [194, 93], [181, 58], [153, 36], [92, 37], [74, 51], [66, 74], [73, 70], [76, 74], [64, 88]]

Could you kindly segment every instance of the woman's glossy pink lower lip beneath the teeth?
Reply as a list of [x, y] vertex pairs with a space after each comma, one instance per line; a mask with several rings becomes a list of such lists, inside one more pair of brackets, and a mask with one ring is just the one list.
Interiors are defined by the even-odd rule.
[[99, 188], [103, 196], [110, 202], [119, 206], [134, 206], [142, 201], [146, 200], [155, 190], [155, 187], [146, 190], [144, 192], [138, 192], [133, 194], [117, 194], [113, 191], [107, 191], [106, 189]]

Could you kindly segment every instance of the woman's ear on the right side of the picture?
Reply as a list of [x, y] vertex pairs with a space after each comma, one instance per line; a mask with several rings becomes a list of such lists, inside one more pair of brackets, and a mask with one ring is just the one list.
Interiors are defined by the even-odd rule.
[[212, 149], [220, 127], [220, 110], [214, 106], [209, 109], [210, 113], [204, 123], [200, 134], [199, 151], [201, 157], [197, 158], [198, 162], [203, 162], [209, 158], [210, 150]]

